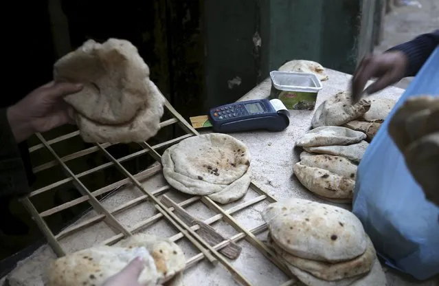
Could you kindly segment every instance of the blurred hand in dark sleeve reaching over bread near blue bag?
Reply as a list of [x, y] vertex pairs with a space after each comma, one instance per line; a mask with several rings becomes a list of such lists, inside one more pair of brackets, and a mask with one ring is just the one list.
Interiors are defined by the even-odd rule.
[[[389, 85], [397, 83], [405, 76], [407, 66], [408, 58], [400, 51], [366, 56], [355, 70], [354, 76], [352, 76], [352, 100], [357, 101], [363, 93], [374, 94]], [[365, 85], [371, 78], [376, 78], [376, 81], [364, 90]]]

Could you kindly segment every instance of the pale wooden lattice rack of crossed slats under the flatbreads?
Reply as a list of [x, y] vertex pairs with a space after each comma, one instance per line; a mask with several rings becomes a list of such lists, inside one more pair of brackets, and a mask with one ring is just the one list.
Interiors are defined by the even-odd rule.
[[[199, 133], [194, 128], [192, 128], [192, 126], [187, 121], [184, 120], [184, 118], [172, 107], [172, 105], [167, 100], [165, 103], [165, 107], [167, 111], [169, 111], [169, 113], [172, 115], [172, 118], [161, 122], [160, 123], [161, 127], [170, 126], [172, 124], [179, 124], [179, 126], [181, 126], [181, 128], [185, 131], [185, 135], [174, 138], [172, 140], [168, 140], [166, 142], [160, 142], [155, 146], [150, 146], [150, 144], [146, 142], [142, 142], [139, 144], [140, 146], [142, 146], [141, 151], [131, 153], [130, 155], [126, 155], [125, 157], [122, 157], [120, 159], [115, 159], [115, 157], [113, 157], [113, 155], [111, 155], [109, 151], [106, 150], [106, 147], [111, 146], [111, 144], [109, 143], [94, 144], [94, 146], [91, 148], [86, 148], [84, 150], [60, 157], [54, 151], [54, 148], [52, 148], [51, 145], [58, 142], [62, 142], [63, 140], [67, 140], [71, 137], [78, 136], [79, 131], [74, 131], [72, 133], [61, 135], [53, 140], [46, 140], [45, 137], [43, 137], [43, 135], [41, 135], [40, 133], [36, 134], [38, 140], [41, 143], [30, 147], [30, 152], [32, 153], [34, 151], [37, 151], [38, 149], [45, 148], [47, 151], [49, 151], [49, 153], [51, 153], [51, 155], [53, 155], [54, 160], [34, 167], [34, 172], [38, 173], [39, 171], [46, 170], [47, 168], [60, 166], [63, 172], [67, 175], [67, 178], [62, 179], [60, 181], [56, 181], [55, 183], [49, 184], [42, 188], [38, 188], [37, 190], [33, 190], [30, 193], [30, 195], [28, 195], [27, 197], [23, 197], [21, 199], [21, 202], [23, 203], [27, 211], [30, 212], [34, 221], [36, 221], [38, 228], [40, 228], [40, 230], [46, 236], [47, 241], [49, 245], [52, 247], [52, 249], [54, 250], [55, 254], [57, 256], [64, 256], [66, 254], [59, 243], [60, 239], [63, 239], [63, 237], [68, 236], [70, 234], [74, 234], [75, 232], [78, 232], [84, 228], [90, 227], [91, 225], [97, 223], [98, 221], [104, 221], [106, 225], [109, 225], [109, 227], [115, 230], [115, 232], [118, 232], [118, 234], [112, 236], [109, 239], [106, 239], [106, 241], [102, 243], [106, 245], [112, 245], [117, 241], [120, 241], [120, 239], [123, 239], [124, 237], [133, 235], [133, 232], [136, 232], [141, 228], [145, 228], [147, 225], [159, 221], [159, 219], [166, 219], [171, 225], [173, 225], [179, 231], [179, 233], [170, 237], [172, 241], [178, 241], [179, 239], [185, 237], [186, 239], [188, 239], [188, 241], [190, 241], [190, 243], [192, 243], [192, 245], [195, 248], [197, 248], [200, 251], [199, 254], [187, 258], [186, 269], [188, 267], [192, 267], [202, 259], [207, 259], [214, 265], [216, 265], [216, 263], [218, 262], [221, 263], [232, 274], [232, 276], [238, 283], [242, 285], [252, 285], [249, 282], [249, 280], [236, 269], [236, 267], [234, 267], [222, 254], [218, 253], [219, 250], [225, 248], [230, 243], [238, 242], [240, 240], [245, 239], [248, 243], [253, 245], [258, 251], [260, 251], [269, 261], [271, 261], [271, 263], [276, 265], [282, 272], [284, 272], [286, 276], [291, 277], [288, 281], [283, 283], [282, 286], [295, 285], [297, 279], [295, 279], [294, 276], [292, 276], [291, 272], [289, 272], [289, 270], [284, 266], [284, 264], [275, 256], [273, 251], [270, 248], [267, 248], [267, 245], [265, 245], [260, 239], [256, 237], [256, 235], [267, 230], [267, 225], [265, 223], [262, 223], [254, 228], [247, 229], [244, 228], [243, 225], [241, 225], [232, 216], [232, 214], [234, 214], [235, 212], [244, 210], [246, 208], [251, 208], [256, 203], [259, 203], [261, 201], [268, 201], [269, 203], [273, 203], [276, 201], [274, 197], [272, 197], [267, 192], [264, 192], [264, 190], [256, 186], [256, 184], [254, 184], [253, 181], [251, 182], [249, 188], [251, 190], [254, 190], [258, 194], [258, 197], [255, 197], [254, 199], [251, 199], [249, 201], [245, 201], [244, 203], [240, 203], [237, 206], [234, 206], [227, 210], [224, 210], [223, 208], [221, 208], [221, 206], [218, 206], [218, 204], [212, 201], [212, 199], [210, 199], [209, 197], [192, 196], [190, 197], [190, 199], [186, 199], [185, 201], [178, 203], [178, 206], [184, 208], [185, 206], [189, 206], [191, 203], [194, 203], [196, 201], [201, 201], [205, 206], [207, 206], [207, 208], [210, 208], [211, 210], [214, 210], [217, 213], [213, 217], [210, 217], [209, 219], [205, 219], [203, 221], [204, 223], [210, 225], [212, 223], [215, 223], [216, 221], [223, 220], [225, 221], [225, 223], [231, 225], [238, 232], [238, 234], [235, 234], [234, 236], [225, 239], [221, 243], [218, 243], [216, 245], [210, 245], [209, 243], [207, 243], [207, 241], [201, 238], [199, 234], [197, 234], [196, 230], [199, 230], [200, 228], [199, 225], [192, 225], [192, 226], [187, 225], [181, 219], [179, 219], [179, 217], [177, 217], [175, 212], [173, 212], [174, 208], [167, 208], [164, 205], [164, 203], [161, 203], [161, 201], [157, 198], [158, 195], [164, 194], [165, 192], [171, 189], [169, 185], [151, 191], [144, 188], [144, 186], [142, 186], [142, 184], [139, 182], [160, 173], [161, 164], [153, 164], [146, 170], [143, 170], [142, 172], [137, 173], [135, 175], [132, 175], [128, 170], [126, 170], [126, 168], [124, 168], [124, 166], [122, 166], [121, 164], [122, 162], [128, 159], [135, 158], [139, 155], [143, 155], [145, 153], [149, 153], [155, 160], [157, 160], [157, 162], [161, 162], [161, 156], [156, 151], [158, 148], [165, 148], [171, 146], [172, 144], [180, 142], [185, 138], [194, 135], [199, 135]], [[91, 168], [89, 170], [86, 170], [78, 174], [75, 174], [66, 164], [66, 162], [68, 162], [71, 159], [75, 159], [95, 152], [102, 153], [107, 159], [109, 159], [110, 162], [101, 164], [100, 166], [96, 166], [95, 168]], [[84, 184], [82, 184], [82, 181], [80, 180], [81, 177], [85, 175], [90, 175], [91, 173], [94, 172], [98, 172], [99, 170], [103, 170], [104, 168], [108, 168], [109, 166], [115, 166], [120, 171], [120, 173], [124, 175], [125, 178], [113, 184], [109, 184], [108, 186], [104, 186], [103, 188], [100, 188], [93, 192], [91, 192]], [[49, 210], [38, 212], [38, 210], [32, 203], [31, 198], [36, 195], [40, 195], [43, 192], [47, 192], [58, 186], [66, 184], [68, 182], [72, 182], [74, 186], [79, 190], [82, 196], [77, 199], [68, 201], [67, 203], [62, 203], [58, 206], [55, 206], [54, 208], [50, 208]], [[138, 188], [138, 190], [140, 190], [143, 193], [143, 195], [137, 197], [136, 199], [123, 203], [122, 205], [118, 206], [117, 208], [111, 211], [107, 210], [103, 206], [103, 204], [98, 199], [96, 199], [98, 195], [104, 195], [106, 193], [111, 192], [112, 190], [126, 186], [126, 184], [134, 185], [135, 187]], [[120, 223], [119, 221], [117, 221], [117, 219], [115, 219], [115, 214], [117, 212], [128, 210], [132, 206], [135, 206], [137, 203], [147, 200], [154, 203], [154, 206], [155, 208], [157, 208], [159, 213], [153, 215], [153, 217], [149, 217], [148, 219], [137, 223], [135, 226], [131, 228], [126, 228], [124, 225], [122, 225], [122, 223]], [[84, 202], [88, 202], [91, 205], [91, 207], [95, 210], [95, 212], [98, 213], [98, 215], [91, 219], [87, 219], [86, 221], [82, 221], [81, 223], [78, 223], [76, 225], [70, 225], [68, 228], [62, 230], [58, 234], [54, 234], [52, 230], [49, 229], [49, 226], [45, 222], [45, 217], [49, 217], [50, 215], [60, 212], [61, 210], [67, 210], [68, 208], [71, 208], [73, 206], [78, 205], [79, 203], [84, 203]]]

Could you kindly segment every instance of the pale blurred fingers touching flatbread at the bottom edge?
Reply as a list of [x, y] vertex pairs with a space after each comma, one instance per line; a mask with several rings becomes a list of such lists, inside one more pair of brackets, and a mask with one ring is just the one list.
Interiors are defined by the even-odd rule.
[[140, 286], [138, 279], [144, 267], [142, 257], [137, 257], [115, 276], [108, 278], [103, 286]]

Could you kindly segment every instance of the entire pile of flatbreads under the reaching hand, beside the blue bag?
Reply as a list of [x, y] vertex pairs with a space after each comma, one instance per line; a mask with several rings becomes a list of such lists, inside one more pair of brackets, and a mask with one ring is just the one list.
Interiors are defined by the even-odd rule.
[[386, 98], [352, 104], [346, 91], [320, 104], [313, 129], [296, 142], [305, 151], [293, 168], [297, 179], [319, 197], [351, 203], [357, 164], [394, 104]]

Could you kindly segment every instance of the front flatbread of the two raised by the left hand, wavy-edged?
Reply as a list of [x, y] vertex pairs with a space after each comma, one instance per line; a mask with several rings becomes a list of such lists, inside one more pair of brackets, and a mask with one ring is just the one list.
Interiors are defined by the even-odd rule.
[[83, 83], [84, 89], [65, 97], [78, 112], [102, 124], [131, 121], [145, 102], [149, 68], [128, 41], [86, 41], [54, 65], [54, 79]]

